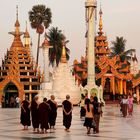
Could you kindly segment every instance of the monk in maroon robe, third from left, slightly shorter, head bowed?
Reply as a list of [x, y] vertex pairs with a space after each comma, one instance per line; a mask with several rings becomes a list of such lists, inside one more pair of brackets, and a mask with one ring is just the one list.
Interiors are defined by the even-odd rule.
[[49, 112], [50, 106], [47, 103], [47, 98], [44, 98], [43, 102], [39, 105], [39, 124], [41, 133], [47, 133], [47, 130], [49, 129]]

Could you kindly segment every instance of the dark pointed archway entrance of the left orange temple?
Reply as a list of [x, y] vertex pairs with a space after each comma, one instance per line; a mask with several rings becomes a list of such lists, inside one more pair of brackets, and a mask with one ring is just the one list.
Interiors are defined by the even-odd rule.
[[16, 107], [16, 97], [19, 96], [18, 88], [12, 82], [9, 82], [4, 88], [5, 107]]

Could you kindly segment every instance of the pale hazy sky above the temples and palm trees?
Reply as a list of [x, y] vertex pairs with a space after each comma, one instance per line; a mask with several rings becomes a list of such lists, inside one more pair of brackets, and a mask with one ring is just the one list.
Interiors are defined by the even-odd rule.
[[[85, 1], [86, 0], [2, 0], [0, 4], [0, 59], [4, 58], [6, 50], [13, 42], [13, 36], [8, 32], [14, 31], [16, 21], [16, 5], [18, 5], [18, 19], [20, 30], [27, 27], [33, 42], [33, 56], [36, 57], [37, 34], [30, 27], [28, 12], [34, 5], [45, 4], [51, 9], [51, 27], [58, 27], [65, 34], [70, 49], [70, 65], [74, 59], [80, 61], [85, 56]], [[136, 55], [140, 62], [140, 0], [97, 0], [97, 26], [99, 20], [100, 5], [103, 11], [103, 31], [107, 35], [109, 47], [116, 36], [123, 36], [126, 42], [126, 50], [136, 49]], [[47, 32], [48, 30], [46, 30]], [[23, 37], [21, 37], [23, 39]], [[44, 35], [41, 37], [41, 43]], [[39, 61], [42, 61], [40, 51]]]

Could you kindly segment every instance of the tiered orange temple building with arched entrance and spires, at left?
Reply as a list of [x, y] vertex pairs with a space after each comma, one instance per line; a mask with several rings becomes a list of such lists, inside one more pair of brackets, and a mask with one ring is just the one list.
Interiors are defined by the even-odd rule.
[[[25, 32], [20, 32], [18, 11], [15, 31], [9, 33], [14, 36], [14, 40], [0, 67], [0, 100], [4, 98], [7, 107], [17, 96], [21, 101], [25, 96], [32, 100], [40, 88], [40, 73], [31, 56], [30, 35], [27, 25]], [[24, 35], [24, 43], [21, 35]]]

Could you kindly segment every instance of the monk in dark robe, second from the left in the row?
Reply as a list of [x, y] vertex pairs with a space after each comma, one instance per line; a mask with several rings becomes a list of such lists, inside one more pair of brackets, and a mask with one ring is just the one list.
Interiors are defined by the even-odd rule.
[[39, 102], [38, 96], [35, 96], [31, 102], [31, 116], [32, 116], [32, 126], [33, 130], [39, 133]]

